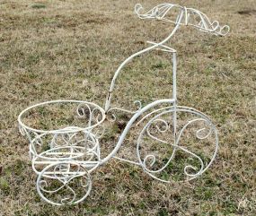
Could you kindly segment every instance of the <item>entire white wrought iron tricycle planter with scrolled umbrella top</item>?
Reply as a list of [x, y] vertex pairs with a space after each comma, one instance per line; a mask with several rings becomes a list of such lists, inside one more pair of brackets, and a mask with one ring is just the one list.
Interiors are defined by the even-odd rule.
[[[173, 21], [170, 14], [174, 10], [179, 13]], [[119, 65], [104, 108], [83, 100], [53, 100], [26, 108], [19, 115], [20, 131], [29, 139], [32, 168], [38, 175], [37, 191], [43, 200], [56, 205], [82, 202], [92, 189], [91, 173], [111, 158], [140, 166], [149, 176], [163, 182], [199, 177], [215, 160], [218, 148], [216, 126], [198, 110], [177, 105], [176, 50], [166, 46], [165, 42], [172, 38], [181, 25], [220, 36], [225, 36], [229, 27], [221, 27], [216, 21], [210, 22], [204, 13], [177, 4], [159, 4], [147, 13], [141, 12], [142, 6], [137, 4], [135, 13], [139, 18], [172, 22], [174, 29], [163, 41], [149, 42], [150, 47], [129, 56]], [[112, 92], [122, 68], [134, 57], [154, 49], [172, 55], [172, 98], [155, 100], [143, 108], [137, 101], [140, 105], [137, 111], [111, 108]], [[45, 129], [51, 125], [51, 118], [47, 123], [44, 122], [47, 115], [63, 115], [69, 119], [66, 110], [74, 108], [75, 117], [70, 126]], [[62, 110], [61, 113], [56, 114], [59, 110]], [[128, 113], [131, 117], [116, 146], [102, 158], [100, 141], [104, 133], [103, 123], [109, 120], [107, 116], [113, 115], [113, 111]], [[79, 120], [82, 122], [75, 125]], [[137, 137], [137, 161], [117, 157], [128, 132], [139, 125], [142, 129]], [[199, 145], [199, 153], [191, 151], [190, 144], [186, 147], [182, 142], [181, 145], [185, 134], [193, 134], [189, 141], [197, 139], [195, 143], [204, 142]], [[210, 152], [206, 156], [202, 153], [207, 149]], [[175, 160], [178, 160], [180, 168], [173, 166]]]

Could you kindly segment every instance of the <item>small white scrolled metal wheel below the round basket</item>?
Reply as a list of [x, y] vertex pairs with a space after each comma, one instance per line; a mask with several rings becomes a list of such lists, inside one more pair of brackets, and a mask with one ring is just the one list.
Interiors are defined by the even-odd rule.
[[55, 205], [80, 203], [91, 189], [89, 172], [75, 161], [52, 163], [40, 172], [37, 179], [40, 197]]

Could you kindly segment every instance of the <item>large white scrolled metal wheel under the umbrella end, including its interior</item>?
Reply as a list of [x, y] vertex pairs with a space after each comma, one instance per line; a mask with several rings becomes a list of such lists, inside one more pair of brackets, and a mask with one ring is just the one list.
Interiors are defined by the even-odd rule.
[[137, 159], [147, 174], [171, 182], [191, 180], [207, 170], [216, 157], [218, 140], [205, 115], [178, 107], [149, 118], [137, 139]]

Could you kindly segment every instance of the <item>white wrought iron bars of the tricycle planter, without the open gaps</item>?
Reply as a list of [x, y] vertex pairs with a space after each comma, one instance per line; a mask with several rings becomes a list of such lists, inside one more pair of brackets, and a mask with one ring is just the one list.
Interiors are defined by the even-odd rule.
[[[169, 15], [174, 10], [178, 10], [179, 13], [176, 19], [172, 20]], [[167, 183], [170, 182], [170, 179], [163, 179], [163, 177], [159, 177], [158, 174], [163, 172], [163, 170], [172, 163], [176, 151], [183, 151], [199, 162], [198, 168], [193, 165], [184, 165], [184, 180], [191, 180], [195, 177], [199, 177], [199, 175], [204, 173], [207, 168], [209, 168], [209, 166], [216, 158], [216, 152], [218, 149], [216, 126], [213, 125], [209, 117], [201, 113], [199, 110], [177, 105], [176, 50], [168, 47], [165, 43], [172, 38], [176, 30], [178, 30], [181, 25], [191, 26], [197, 30], [219, 36], [225, 36], [230, 30], [229, 26], [220, 26], [219, 22], [217, 21], [210, 22], [206, 14], [201, 13], [196, 9], [187, 8], [178, 4], [159, 4], [146, 13], [143, 13], [143, 7], [141, 4], [136, 4], [135, 13], [140, 19], [155, 19], [163, 22], [171, 22], [174, 24], [174, 29], [170, 35], [163, 39], [161, 42], [147, 41], [150, 44], [150, 47], [142, 49], [137, 53], [129, 56], [121, 65], [119, 65], [119, 68], [114, 73], [110, 83], [110, 90], [108, 92], [104, 108], [98, 106], [95, 103], [87, 102], [84, 100], [53, 100], [26, 108], [18, 117], [20, 131], [24, 136], [28, 138], [30, 143], [32, 168], [38, 175], [36, 183], [37, 191], [40, 194], [40, 197], [48, 203], [63, 205], [82, 202], [90, 194], [92, 189], [91, 173], [93, 170], [102, 164], [105, 164], [112, 158], [135, 164], [143, 168], [149, 176]], [[155, 49], [162, 50], [163, 52], [167, 52], [172, 55], [172, 98], [158, 99], [152, 103], [147, 104], [145, 107], [142, 107], [140, 101], [135, 101], [139, 107], [136, 111], [128, 110], [125, 108], [112, 108], [111, 98], [114, 91], [115, 82], [121, 70], [136, 56], [141, 56], [142, 54]], [[65, 128], [41, 130], [31, 127], [25, 124], [23, 121], [24, 117], [29, 116], [31, 110], [34, 108], [42, 108], [52, 104], [69, 103], [75, 104], [77, 117], [87, 119], [84, 127], [72, 125]], [[164, 107], [157, 108], [159, 105], [163, 104]], [[152, 111], [152, 109], [154, 110]], [[99, 128], [102, 127], [102, 123], [104, 121], [108, 121], [107, 116], [117, 110], [126, 112], [133, 116], [129, 119], [123, 132], [120, 134], [119, 141], [114, 149], [108, 154], [108, 156], [102, 158], [101, 145], [99, 143], [99, 138], [101, 137], [99, 131], [101, 130]], [[185, 125], [181, 127], [181, 129], [178, 130], [177, 122], [179, 120], [178, 115], [180, 113], [187, 113], [196, 118], [190, 119]], [[117, 117], [114, 116], [114, 114], [112, 115], [112, 120], [116, 120]], [[168, 122], [163, 118], [164, 115], [172, 117], [172, 120]], [[137, 161], [117, 157], [116, 154], [122, 146], [122, 143], [130, 131], [130, 128], [132, 126], [142, 125], [145, 122], [146, 124], [143, 125], [143, 129], [137, 138]], [[207, 162], [201, 159], [201, 157], [199, 157], [199, 155], [196, 153], [182, 146], [180, 143], [181, 136], [184, 131], [190, 125], [199, 122], [201, 122], [204, 126], [196, 131], [197, 139], [205, 140], [209, 136], [212, 136], [214, 140], [214, 150], [210, 160]], [[172, 143], [165, 141], [163, 138], [159, 138], [157, 135], [152, 133], [152, 127], [154, 127], [154, 131], [156, 133], [160, 134], [172, 131]], [[154, 168], [154, 165], [158, 160], [154, 154], [146, 154], [146, 156], [142, 155], [141, 145], [144, 142], [145, 136], [152, 139], [154, 142], [170, 145], [170, 148], [172, 148], [172, 154], [164, 163], [163, 167], [156, 169]], [[46, 142], [49, 142], [47, 143], [49, 145], [49, 149], [41, 150], [40, 147]], [[75, 181], [75, 179], [78, 178], [80, 180]], [[57, 188], [52, 189], [49, 186], [49, 181], [57, 181], [57, 184], [59, 185], [53, 185], [53, 187], [56, 186]], [[78, 192], [75, 191], [77, 188]], [[57, 198], [50, 197], [51, 195], [57, 193], [60, 193], [57, 195]], [[70, 195], [66, 196], [66, 193], [69, 193]]]

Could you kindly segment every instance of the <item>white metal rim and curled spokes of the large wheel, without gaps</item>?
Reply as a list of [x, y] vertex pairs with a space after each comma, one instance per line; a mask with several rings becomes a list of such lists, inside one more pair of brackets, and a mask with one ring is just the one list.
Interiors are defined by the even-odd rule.
[[[158, 179], [161, 180], [163, 182], [170, 182], [170, 180], [164, 180], [161, 177], [157, 177], [155, 176], [155, 174], [159, 174], [160, 172], [163, 172], [164, 169], [166, 169], [171, 163], [172, 161], [175, 159], [175, 153], [176, 151], [182, 151], [185, 154], [188, 155], [188, 157], [192, 157], [196, 160], [199, 161], [199, 167], [195, 167], [192, 165], [185, 165], [184, 164], [184, 168], [183, 168], [183, 174], [185, 175], [185, 179], [184, 180], [191, 180], [195, 177], [198, 177], [199, 175], [201, 175], [207, 168], [208, 166], [212, 163], [212, 161], [215, 159], [216, 157], [216, 150], [218, 147], [218, 141], [216, 138], [216, 129], [214, 127], [214, 125], [212, 125], [212, 123], [207, 119], [207, 117], [202, 116], [201, 114], [198, 114], [197, 112], [191, 111], [191, 110], [185, 110], [185, 109], [177, 109], [176, 111], [178, 112], [189, 112], [191, 114], [194, 115], [198, 115], [199, 118], [190, 120], [187, 124], [183, 125], [182, 128], [180, 129], [180, 132], [178, 133], [178, 135], [175, 137], [175, 139], [172, 141], [172, 143], [163, 140], [162, 138], [157, 137], [157, 133], [153, 134], [153, 130], [152, 128], [154, 127], [154, 132], [158, 132], [158, 133], [165, 133], [165, 137], [168, 136], [168, 134], [166, 133], [171, 133], [168, 129], [170, 128], [170, 124], [167, 123], [166, 120], [162, 119], [161, 117], [165, 114], [170, 114], [174, 112], [174, 109], [168, 110], [168, 111], [163, 111], [162, 113], [156, 115], [155, 117], [150, 118], [150, 120], [148, 121], [148, 123], [144, 126], [144, 128], [142, 129], [141, 133], [139, 134], [138, 140], [137, 140], [137, 157], [139, 160], [140, 165], [146, 170], [146, 172]], [[207, 165], [205, 165], [206, 161], [203, 161], [198, 154], [190, 151], [188, 148], [181, 146], [181, 136], [182, 134], [184, 134], [184, 131], [186, 129], [188, 129], [188, 127], [194, 123], [198, 123], [198, 122], [203, 122], [205, 123], [206, 126], [204, 126], [203, 128], [200, 128], [196, 131], [195, 136], [199, 139], [199, 140], [205, 140], [207, 139], [210, 135], [214, 135], [215, 137], [215, 151], [213, 152], [213, 155], [211, 157], [211, 160], [207, 163]], [[156, 125], [155, 125], [156, 124]], [[162, 124], [162, 125], [159, 125]], [[161, 127], [162, 129], [161, 129]], [[156, 155], [152, 154], [152, 153], [147, 153], [144, 158], [141, 155], [141, 148], [142, 148], [142, 144], [144, 143], [143, 140], [148, 137], [154, 141], [156, 141], [158, 144], [166, 144], [169, 146], [172, 146], [172, 153], [169, 156], [169, 159], [165, 162], [165, 164], [163, 164], [163, 166], [161, 168], [154, 168], [154, 165], [157, 163], [156, 160]], [[146, 138], [146, 142], [148, 143], [148, 138]], [[146, 145], [145, 142], [145, 145]], [[153, 169], [154, 168], [154, 169]]]

